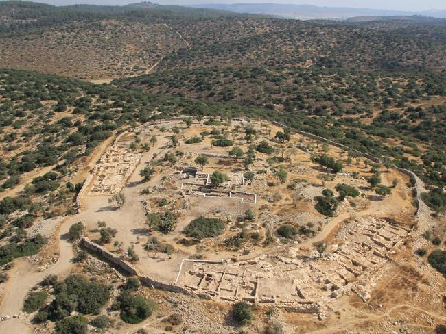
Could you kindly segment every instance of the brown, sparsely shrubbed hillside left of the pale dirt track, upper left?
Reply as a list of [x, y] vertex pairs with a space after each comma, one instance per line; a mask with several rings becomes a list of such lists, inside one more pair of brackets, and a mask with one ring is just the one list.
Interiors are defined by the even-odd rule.
[[168, 25], [124, 21], [66, 23], [0, 37], [2, 66], [101, 79], [145, 73], [186, 47]]

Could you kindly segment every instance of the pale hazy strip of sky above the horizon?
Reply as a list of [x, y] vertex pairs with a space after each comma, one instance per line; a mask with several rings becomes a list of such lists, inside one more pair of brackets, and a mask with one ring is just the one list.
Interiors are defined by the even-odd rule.
[[[36, 0], [34, 0], [36, 1]], [[91, 3], [95, 5], [123, 5], [141, 0], [37, 0], [52, 5]], [[329, 7], [377, 8], [388, 10], [446, 9], [446, 0], [151, 0], [161, 5], [191, 5], [198, 3], [295, 3]]]

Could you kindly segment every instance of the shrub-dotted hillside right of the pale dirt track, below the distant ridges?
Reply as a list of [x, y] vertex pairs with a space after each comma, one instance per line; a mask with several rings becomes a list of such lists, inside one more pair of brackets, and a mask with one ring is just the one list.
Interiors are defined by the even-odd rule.
[[364, 70], [445, 68], [444, 42], [341, 23], [215, 18], [177, 29], [193, 47], [165, 57], [165, 68], [209, 64]]

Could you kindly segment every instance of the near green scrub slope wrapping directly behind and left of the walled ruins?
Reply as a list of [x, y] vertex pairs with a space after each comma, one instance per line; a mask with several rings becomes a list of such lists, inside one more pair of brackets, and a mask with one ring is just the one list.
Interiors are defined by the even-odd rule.
[[[29, 191], [31, 194], [54, 191], [58, 185], [47, 181], [57, 181], [73, 172], [73, 162], [88, 156], [113, 131], [183, 114], [279, 120], [290, 127], [333, 138], [376, 156], [386, 155], [388, 162], [394, 160], [400, 166], [416, 170], [430, 183], [441, 185], [446, 181], [441, 146], [421, 144], [414, 136], [405, 136], [401, 129], [392, 129], [392, 124], [398, 120], [397, 114], [392, 112], [383, 112], [373, 124], [364, 125], [352, 117], [277, 112], [263, 107], [172, 98], [21, 70], [2, 70], [0, 84], [1, 150], [5, 152], [1, 162], [3, 190], [20, 183], [27, 173], [51, 167], [56, 168], [58, 174], [51, 175], [49, 180], [38, 179], [38, 186]], [[423, 109], [415, 109], [408, 115], [423, 113], [431, 119], [418, 122], [418, 133], [426, 138], [440, 133], [442, 130], [435, 130], [435, 127], [438, 124], [444, 127], [444, 122], [434, 118], [444, 120], [444, 110], [432, 107], [426, 113]], [[401, 118], [398, 123], [402, 125], [403, 120]], [[385, 129], [389, 129], [390, 136], [383, 135]], [[444, 145], [444, 138], [438, 138]], [[408, 156], [414, 158], [408, 159]], [[40, 184], [40, 181], [45, 182]]]

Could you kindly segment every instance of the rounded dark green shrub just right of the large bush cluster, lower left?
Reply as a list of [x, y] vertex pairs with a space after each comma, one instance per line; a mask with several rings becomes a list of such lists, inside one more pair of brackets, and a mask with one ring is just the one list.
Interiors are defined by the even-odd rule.
[[143, 322], [157, 308], [154, 300], [146, 300], [142, 296], [133, 296], [129, 292], [121, 294], [119, 305], [121, 307], [121, 320], [128, 324]]

